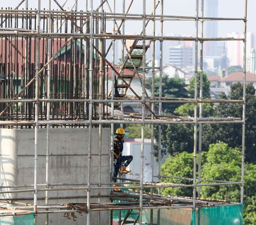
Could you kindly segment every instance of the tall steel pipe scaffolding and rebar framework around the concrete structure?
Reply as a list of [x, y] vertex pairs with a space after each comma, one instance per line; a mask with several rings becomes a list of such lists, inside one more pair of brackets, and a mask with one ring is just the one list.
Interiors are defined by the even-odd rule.
[[[58, 6], [58, 11], [52, 10], [51, 4], [54, 3]], [[112, 5], [110, 5], [112, 3]], [[25, 5], [25, 9], [20, 9]], [[136, 180], [139, 184], [139, 200], [140, 204], [134, 206], [134, 209], [139, 209], [140, 220], [139, 224], [142, 224], [142, 210], [150, 207], [145, 207], [142, 203], [143, 189], [145, 184], [143, 183], [143, 155], [144, 155], [144, 137], [145, 137], [145, 125], [151, 126], [151, 155], [153, 162], [153, 138], [154, 138], [154, 126], [158, 126], [158, 144], [159, 151], [158, 157], [161, 162], [161, 124], [193, 124], [194, 125], [194, 175], [193, 185], [187, 185], [193, 189], [193, 199], [190, 206], [194, 210], [196, 209], [197, 197], [200, 197], [200, 188], [205, 185], [240, 185], [241, 186], [241, 203], [243, 204], [244, 193], [244, 155], [245, 155], [245, 87], [246, 87], [246, 18], [247, 18], [247, 0], [244, 0], [244, 18], [205, 18], [204, 15], [204, 1], [195, 1], [196, 15], [195, 16], [175, 16], [164, 14], [164, 0], [156, 2], [152, 0], [153, 12], [151, 14], [146, 13], [146, 7], [148, 6], [146, 0], [141, 0], [141, 13], [130, 13], [130, 7], [134, 4], [133, 0], [126, 7], [125, 0], [122, 1], [122, 13], [116, 13], [115, 0], [100, 0], [99, 5], [94, 7], [95, 3], [92, 0], [85, 1], [84, 11], [78, 11], [78, 1], [74, 3], [74, 11], [66, 11], [63, 9], [63, 5], [60, 5], [57, 0], [48, 1], [48, 9], [41, 9], [41, 0], [37, 0], [37, 9], [29, 10], [28, 0], [22, 0], [15, 9], [1, 9], [1, 73], [6, 74], [6, 79], [0, 91], [0, 127], [1, 128], [34, 128], [35, 130], [35, 177], [34, 185], [27, 185], [26, 187], [33, 187], [31, 189], [16, 190], [16, 192], [22, 191], [34, 191], [34, 205], [33, 211], [38, 213], [50, 213], [50, 211], [40, 211], [41, 206], [37, 204], [38, 190], [45, 191], [46, 193], [46, 205], [48, 204], [48, 193], [51, 191], [49, 188], [39, 188], [41, 186], [49, 187], [54, 184], [49, 184], [49, 129], [51, 127], [87, 127], [89, 128], [89, 146], [88, 146], [88, 163], [91, 165], [91, 151], [92, 151], [92, 128], [99, 127], [100, 137], [103, 127], [111, 125], [111, 132], [114, 136], [114, 124], [115, 123], [139, 123], [141, 124], [141, 171], [140, 180]], [[158, 6], [158, 8], [157, 8]], [[159, 9], [160, 8], [160, 9]], [[194, 21], [195, 23], [195, 35], [194, 37], [172, 37], [164, 36], [163, 26], [165, 21], [177, 20], [177, 21]], [[204, 21], [243, 21], [244, 22], [244, 38], [205, 38], [203, 36], [203, 23]], [[125, 32], [125, 22], [127, 21], [141, 21], [142, 32], [137, 35], [129, 35]], [[146, 32], [148, 23], [152, 25], [151, 35]], [[119, 24], [118, 24], [119, 23]], [[158, 24], [156, 24], [158, 23]], [[22, 26], [20, 28], [20, 26]], [[156, 35], [156, 26], [160, 28], [160, 34]], [[200, 31], [200, 29], [201, 31]], [[19, 41], [25, 44], [24, 49], [20, 49]], [[78, 51], [77, 41], [79, 40], [80, 47]], [[107, 40], [110, 40], [110, 45], [107, 45]], [[115, 65], [115, 41], [121, 40], [123, 43], [122, 59], [125, 61], [125, 45], [126, 40], [138, 40], [141, 43], [142, 49], [142, 76], [141, 76], [141, 88], [142, 96], [138, 96], [132, 87], [129, 88], [135, 95], [131, 98], [115, 97], [115, 77], [121, 79], [124, 83], [127, 83], [122, 78], [123, 70], [117, 71]], [[197, 93], [198, 80], [195, 76], [195, 98], [194, 99], [179, 99], [179, 98], [165, 98], [162, 96], [162, 77], [163, 77], [163, 41], [166, 40], [190, 40], [195, 43], [195, 71], [194, 74], [201, 74], [199, 98]], [[244, 43], [244, 80], [243, 80], [243, 100], [229, 101], [229, 100], [211, 100], [204, 99], [203, 97], [203, 46], [205, 41], [243, 41]], [[57, 42], [57, 44], [54, 43]], [[145, 73], [146, 73], [146, 48], [147, 44], [151, 43], [151, 60], [155, 62], [155, 49], [156, 41], [160, 43], [160, 65], [159, 65], [159, 96], [154, 94], [154, 80], [155, 80], [155, 63], [152, 63], [152, 96], [147, 97], [145, 90]], [[42, 53], [41, 45], [44, 45], [44, 53]], [[29, 52], [31, 46], [34, 45], [34, 50]], [[68, 46], [70, 47], [70, 55], [67, 54]], [[84, 46], [84, 49], [83, 47]], [[54, 49], [55, 48], [55, 49]], [[3, 54], [3, 49], [9, 49]], [[198, 51], [198, 49], [200, 49]], [[15, 53], [13, 54], [12, 51]], [[61, 58], [61, 51], [65, 51], [64, 56]], [[84, 52], [83, 52], [84, 51]], [[108, 55], [112, 53], [110, 62]], [[129, 55], [129, 54], [128, 54]], [[13, 59], [11, 59], [13, 57]], [[21, 57], [22, 66], [17, 63]], [[68, 62], [68, 57], [70, 61]], [[33, 61], [34, 59], [34, 61]], [[129, 56], [131, 59], [131, 56]], [[199, 62], [198, 62], [199, 59]], [[128, 58], [127, 58], [128, 60]], [[62, 63], [63, 62], [63, 63]], [[33, 64], [34, 63], [34, 64]], [[69, 66], [67, 64], [69, 63]], [[62, 65], [63, 64], [63, 65]], [[199, 68], [198, 68], [199, 64]], [[59, 65], [59, 66], [58, 66]], [[134, 66], [134, 65], [133, 65]], [[21, 89], [19, 90], [14, 82], [19, 82], [19, 68], [22, 69]], [[111, 94], [108, 96], [105, 91], [106, 83], [106, 68], [111, 70]], [[55, 72], [54, 72], [55, 69]], [[136, 68], [134, 67], [136, 71]], [[14, 73], [12, 72], [14, 71]], [[35, 71], [35, 72], [33, 72]], [[108, 70], [107, 70], [108, 71]], [[137, 72], [137, 71], [136, 71]], [[138, 73], [138, 72], [137, 72]], [[63, 84], [71, 81], [73, 85], [67, 85], [67, 91], [58, 91], [60, 87], [56, 88], [56, 94], [53, 93], [54, 79], [59, 79], [59, 74], [65, 74], [61, 77]], [[57, 76], [57, 77], [54, 77]], [[79, 79], [79, 76], [82, 79]], [[44, 79], [43, 79], [44, 77]], [[53, 80], [53, 82], [51, 82]], [[7, 84], [8, 83], [8, 84]], [[16, 84], [17, 84], [16, 83]], [[1, 86], [0, 86], [1, 87]], [[13, 88], [16, 87], [15, 90]], [[7, 88], [7, 89], [6, 89]], [[8, 90], [5, 93], [5, 90]], [[66, 96], [65, 96], [66, 95]], [[121, 104], [121, 111], [123, 110], [123, 103], [139, 102], [141, 103], [142, 113], [139, 118], [131, 118], [129, 115], [125, 115], [123, 119], [116, 118], [114, 115], [115, 103]], [[243, 104], [242, 118], [203, 118], [203, 104], [202, 103], [239, 103]], [[110, 103], [111, 115], [106, 115], [105, 106]], [[162, 115], [162, 103], [194, 103], [194, 118], [179, 117]], [[149, 107], [147, 104], [150, 104]], [[13, 106], [14, 105], [14, 106]], [[52, 105], [56, 106], [55, 111], [52, 109]], [[57, 106], [61, 105], [61, 109], [57, 109]], [[156, 105], [158, 106], [158, 112], [155, 111]], [[199, 112], [197, 109], [199, 105]], [[15, 107], [16, 106], [16, 107]], [[20, 106], [20, 110], [19, 109]], [[145, 113], [145, 108], [151, 112], [151, 115]], [[77, 120], [79, 119], [79, 120]], [[242, 126], [242, 174], [241, 182], [228, 182], [228, 181], [211, 181], [211, 184], [204, 184], [201, 180], [201, 154], [202, 154], [202, 126], [205, 123], [239, 123]], [[37, 183], [37, 159], [38, 159], [38, 129], [46, 127], [47, 129], [47, 148], [46, 148], [46, 181], [45, 184]], [[198, 134], [199, 129], [199, 134]], [[197, 143], [197, 135], [199, 135], [199, 142]], [[101, 139], [100, 148], [101, 149]], [[197, 151], [197, 147], [199, 151]], [[99, 155], [101, 154], [99, 150]], [[199, 166], [197, 169], [196, 159], [199, 157]], [[109, 163], [111, 164], [111, 162]], [[101, 157], [99, 157], [99, 165], [101, 165]], [[154, 166], [154, 165], [153, 165]], [[99, 166], [100, 168], [100, 166]], [[161, 163], [159, 163], [158, 171], [161, 171]], [[198, 172], [198, 177], [196, 175]], [[111, 187], [111, 182], [105, 185], [105, 187], [95, 187], [95, 184], [91, 184], [91, 167], [87, 171], [88, 182], [87, 184], [76, 184], [81, 186], [80, 189], [87, 191], [87, 224], [90, 224], [90, 191], [92, 189], [100, 190]], [[157, 176], [161, 179], [161, 173]], [[180, 178], [186, 179], [186, 178]], [[134, 182], [134, 181], [131, 181]], [[123, 184], [132, 184], [131, 182], [124, 182]], [[100, 170], [99, 170], [99, 184], [101, 184]], [[119, 183], [118, 183], [119, 184]], [[55, 184], [57, 185], [57, 184]], [[66, 184], [67, 185], [67, 184]], [[73, 184], [69, 184], [72, 186]], [[159, 195], [161, 195], [161, 188], [163, 187], [182, 187], [183, 184], [160, 184], [157, 186]], [[15, 188], [22, 188], [23, 186], [15, 186]], [[147, 184], [147, 187], [156, 187], [154, 183]], [[2, 187], [7, 188], [7, 187]], [[122, 188], [128, 188], [123, 187]], [[129, 188], [138, 188], [133, 186]], [[72, 189], [72, 187], [70, 187]], [[54, 190], [62, 190], [62, 188], [54, 188]], [[198, 196], [196, 195], [198, 191]], [[6, 191], [10, 193], [11, 191]], [[6, 193], [1, 191], [1, 193]], [[15, 193], [15, 190], [13, 191]], [[152, 195], [152, 194], [151, 194]], [[177, 206], [166, 206], [166, 208]], [[182, 205], [181, 207], [186, 207]], [[161, 209], [161, 206], [154, 206], [152, 209]], [[26, 208], [28, 209], [28, 208]], [[50, 209], [50, 206], [49, 208]], [[124, 207], [125, 209], [125, 207]], [[150, 208], [151, 209], [151, 208]], [[94, 209], [101, 211], [102, 209]], [[103, 210], [114, 210], [113, 206], [106, 206]], [[53, 212], [72, 212], [73, 210], [67, 210], [65, 207], [58, 207], [58, 210]], [[2, 215], [1, 215], [2, 216]], [[47, 223], [47, 219], [46, 219]], [[151, 220], [152, 223], [152, 220]]]

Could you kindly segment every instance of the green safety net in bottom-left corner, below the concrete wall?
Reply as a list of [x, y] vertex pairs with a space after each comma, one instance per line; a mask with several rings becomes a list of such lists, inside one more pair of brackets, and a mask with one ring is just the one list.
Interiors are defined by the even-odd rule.
[[35, 214], [30, 213], [21, 216], [3, 216], [0, 220], [1, 225], [35, 225]]

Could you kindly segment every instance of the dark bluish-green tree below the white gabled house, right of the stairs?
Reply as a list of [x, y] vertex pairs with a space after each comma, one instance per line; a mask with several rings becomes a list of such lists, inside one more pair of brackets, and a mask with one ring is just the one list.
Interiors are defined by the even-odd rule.
[[[167, 74], [162, 77], [162, 97], [187, 98], [188, 91], [185, 89], [187, 85], [183, 79], [172, 77]], [[145, 87], [152, 89], [152, 78], [146, 79]], [[155, 77], [154, 94], [159, 96], [159, 77]], [[172, 114], [173, 111], [181, 104], [163, 103], [162, 110], [165, 113]]]

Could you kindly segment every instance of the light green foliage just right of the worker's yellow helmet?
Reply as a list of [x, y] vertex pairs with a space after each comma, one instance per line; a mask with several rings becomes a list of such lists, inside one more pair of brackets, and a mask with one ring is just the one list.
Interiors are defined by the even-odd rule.
[[[125, 131], [129, 131], [129, 135], [127, 135], [127, 138], [141, 138], [141, 124], [137, 123], [127, 123], [125, 124]], [[151, 137], [151, 129], [150, 125], [145, 125], [145, 138]]]

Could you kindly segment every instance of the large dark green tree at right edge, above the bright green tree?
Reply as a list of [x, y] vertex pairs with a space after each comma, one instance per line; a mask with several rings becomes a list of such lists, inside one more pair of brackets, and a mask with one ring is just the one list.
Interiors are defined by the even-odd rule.
[[[242, 99], [243, 85], [240, 83], [230, 86], [229, 99]], [[222, 95], [227, 98], [227, 96]], [[215, 117], [242, 118], [243, 105], [240, 103], [222, 103], [214, 110]], [[245, 124], [245, 160], [247, 162], [256, 162], [255, 139], [256, 139], [256, 96], [252, 84], [246, 85], [246, 124]], [[242, 124], [205, 124], [203, 127], [203, 145], [208, 148], [211, 143], [224, 141], [230, 147], [242, 146]]]

